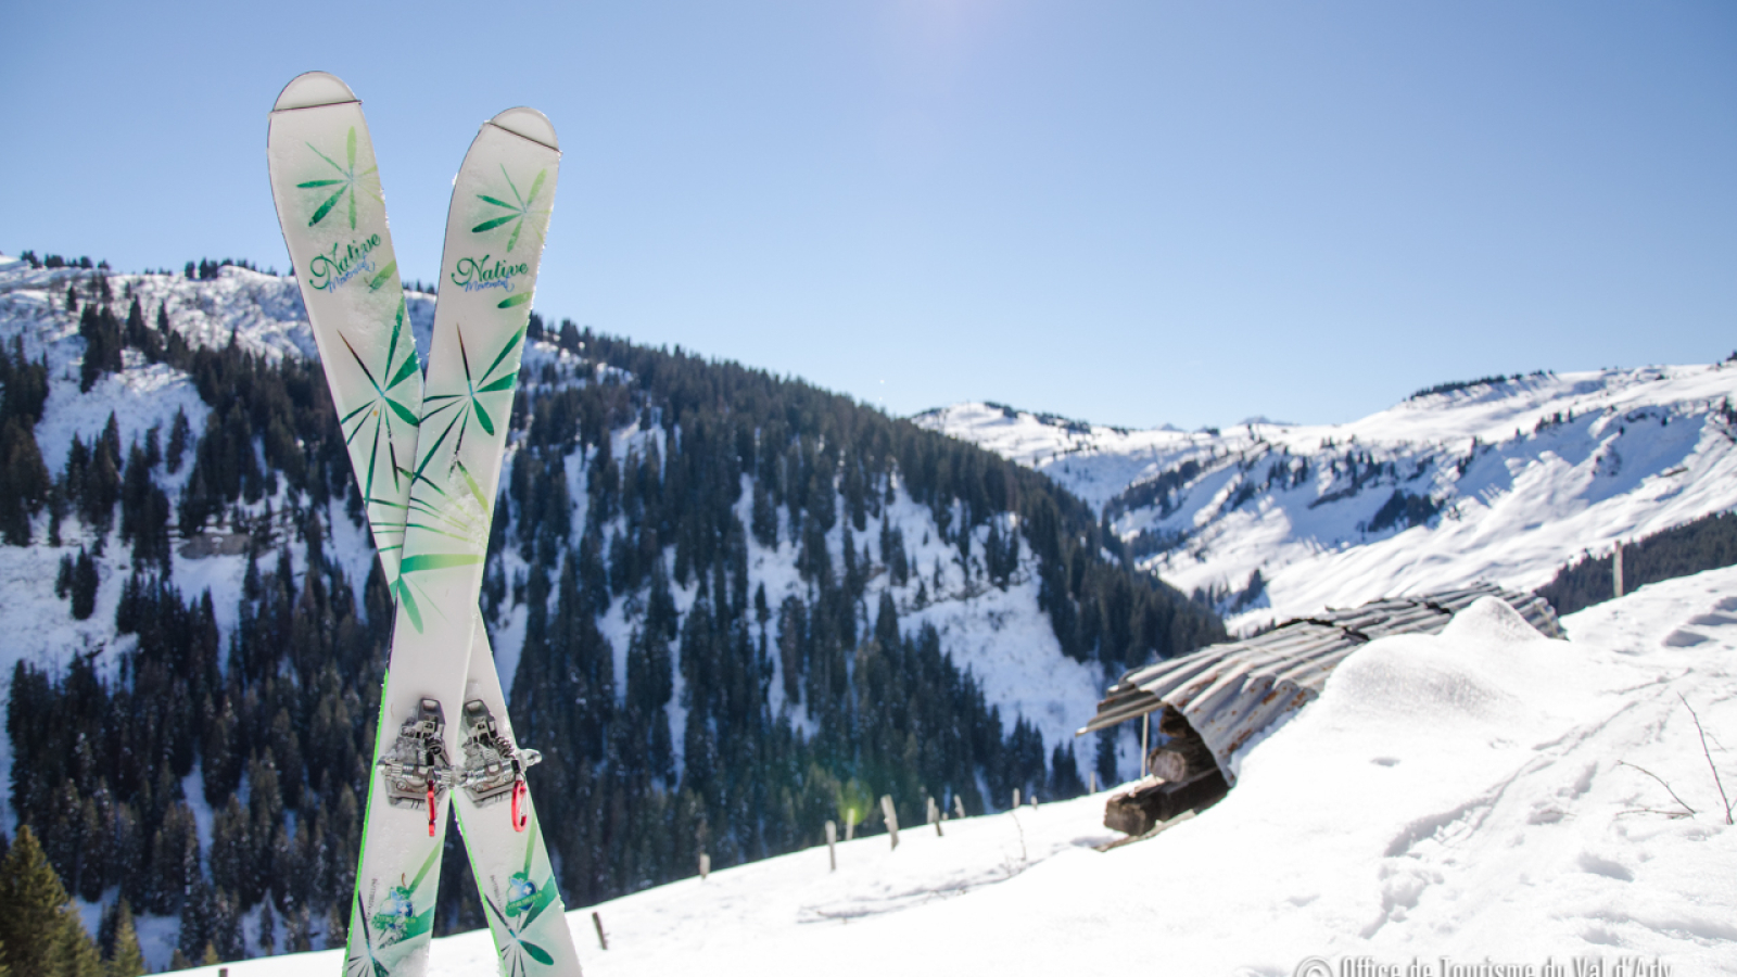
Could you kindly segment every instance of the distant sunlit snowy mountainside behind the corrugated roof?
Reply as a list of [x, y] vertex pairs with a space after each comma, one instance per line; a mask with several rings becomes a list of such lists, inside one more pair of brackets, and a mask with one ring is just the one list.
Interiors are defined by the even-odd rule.
[[1530, 589], [1728, 509], [1734, 395], [1727, 362], [1480, 382], [1332, 426], [1127, 431], [985, 403], [915, 421], [1053, 476], [1247, 629], [1476, 579]]

